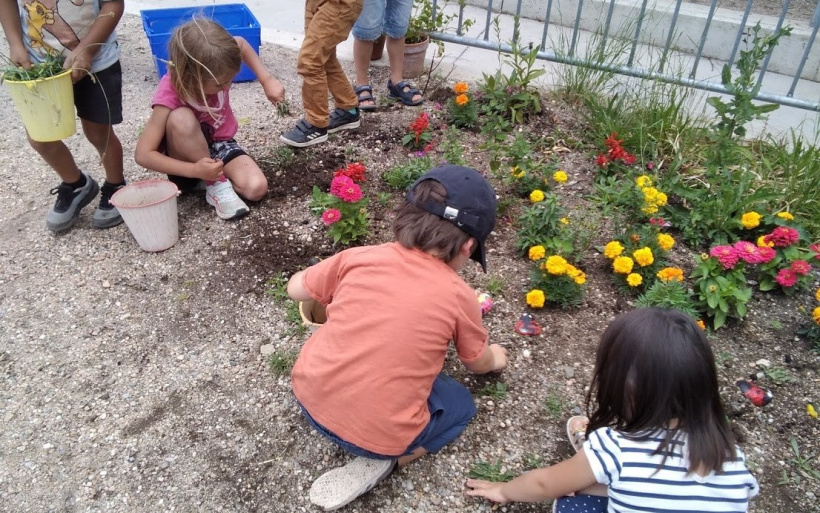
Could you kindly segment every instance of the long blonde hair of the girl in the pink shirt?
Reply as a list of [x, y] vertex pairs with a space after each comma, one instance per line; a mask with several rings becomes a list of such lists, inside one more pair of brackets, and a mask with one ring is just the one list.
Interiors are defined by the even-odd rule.
[[[242, 65], [239, 44], [219, 23], [204, 17], [174, 29], [168, 42], [171, 83], [180, 98], [208, 108], [204, 83], [236, 75]], [[209, 109], [210, 110], [210, 109]]]

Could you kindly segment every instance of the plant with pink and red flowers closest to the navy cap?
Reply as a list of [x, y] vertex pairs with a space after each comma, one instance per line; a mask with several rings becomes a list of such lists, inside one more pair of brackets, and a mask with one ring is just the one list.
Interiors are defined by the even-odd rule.
[[369, 233], [367, 198], [357, 183], [364, 177], [365, 168], [357, 162], [336, 171], [329, 193], [313, 186], [311, 212], [321, 216], [334, 244], [349, 244]]

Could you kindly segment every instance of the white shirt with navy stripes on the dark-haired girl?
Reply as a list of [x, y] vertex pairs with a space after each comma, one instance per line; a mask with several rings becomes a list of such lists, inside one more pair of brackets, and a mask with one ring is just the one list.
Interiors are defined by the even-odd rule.
[[745, 458], [727, 462], [720, 474], [687, 474], [685, 437], [654, 454], [665, 433], [646, 441], [635, 441], [610, 428], [593, 431], [584, 443], [595, 479], [609, 488], [609, 513], [691, 513], [747, 511], [749, 499], [757, 495], [757, 481], [746, 469]]

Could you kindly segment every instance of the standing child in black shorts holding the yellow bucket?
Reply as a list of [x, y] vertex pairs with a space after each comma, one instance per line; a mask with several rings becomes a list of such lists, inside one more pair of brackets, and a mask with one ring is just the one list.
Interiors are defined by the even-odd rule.
[[[123, 9], [122, 0], [60, 2], [59, 11], [56, 0], [0, 2], [0, 24], [14, 64], [28, 69], [50, 56], [64, 55], [63, 67], [72, 70], [77, 116], [105, 169], [100, 203], [91, 219], [96, 228], [122, 222], [109, 200], [125, 185], [122, 144], [112, 126], [122, 122], [122, 69], [115, 28]], [[62, 141], [35, 141], [30, 134], [28, 140], [62, 179], [51, 190], [57, 200], [46, 226], [53, 232], [67, 230], [77, 222], [80, 210], [94, 200], [100, 186], [77, 167]]]

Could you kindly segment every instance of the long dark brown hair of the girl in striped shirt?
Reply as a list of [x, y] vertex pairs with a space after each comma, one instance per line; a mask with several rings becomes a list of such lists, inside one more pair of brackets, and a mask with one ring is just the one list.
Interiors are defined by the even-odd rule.
[[[644, 440], [667, 429], [655, 454], [667, 455], [685, 433], [690, 472], [720, 472], [736, 457], [712, 349], [695, 321], [677, 310], [639, 308], [610, 323], [598, 345], [586, 407], [587, 436], [611, 427]], [[673, 419], [677, 424], [670, 426]]]

